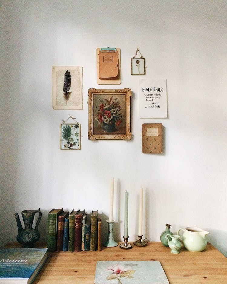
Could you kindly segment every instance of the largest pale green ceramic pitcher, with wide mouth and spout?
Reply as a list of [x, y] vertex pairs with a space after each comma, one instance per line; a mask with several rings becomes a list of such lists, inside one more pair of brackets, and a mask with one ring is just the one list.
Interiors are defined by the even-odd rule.
[[[183, 231], [182, 236], [179, 234], [181, 230]], [[197, 227], [179, 228], [177, 231], [177, 235], [182, 239], [183, 245], [191, 252], [201, 252], [206, 248], [206, 235], [208, 234], [209, 232]]]

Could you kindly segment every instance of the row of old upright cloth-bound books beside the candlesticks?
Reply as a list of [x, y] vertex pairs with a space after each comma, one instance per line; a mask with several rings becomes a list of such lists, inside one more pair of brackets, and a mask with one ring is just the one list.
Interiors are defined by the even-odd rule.
[[89, 218], [85, 210], [63, 211], [52, 209], [48, 213], [48, 252], [101, 250], [101, 219], [98, 210]]

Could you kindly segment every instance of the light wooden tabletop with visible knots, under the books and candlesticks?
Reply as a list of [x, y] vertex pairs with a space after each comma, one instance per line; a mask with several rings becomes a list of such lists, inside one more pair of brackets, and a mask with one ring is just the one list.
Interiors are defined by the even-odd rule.
[[[16, 246], [11, 243], [5, 247]], [[227, 283], [227, 258], [209, 243], [200, 253], [182, 248], [179, 254], [172, 254], [168, 247], [157, 242], [144, 247], [133, 245], [129, 250], [116, 246], [103, 247], [100, 252], [53, 252], [48, 256], [33, 284], [93, 284], [98, 260], [157, 260], [170, 284]]]

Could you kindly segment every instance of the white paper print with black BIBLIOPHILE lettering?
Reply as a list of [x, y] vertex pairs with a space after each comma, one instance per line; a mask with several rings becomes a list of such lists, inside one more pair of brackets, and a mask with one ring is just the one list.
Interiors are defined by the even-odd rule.
[[140, 118], [167, 117], [166, 79], [138, 81]]

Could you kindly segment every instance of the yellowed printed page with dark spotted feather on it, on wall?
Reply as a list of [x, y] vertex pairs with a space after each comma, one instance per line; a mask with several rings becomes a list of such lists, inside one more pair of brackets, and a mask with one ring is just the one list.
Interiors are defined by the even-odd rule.
[[52, 107], [83, 109], [82, 66], [52, 66]]

